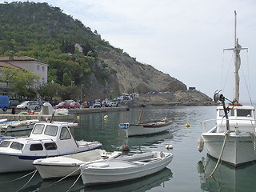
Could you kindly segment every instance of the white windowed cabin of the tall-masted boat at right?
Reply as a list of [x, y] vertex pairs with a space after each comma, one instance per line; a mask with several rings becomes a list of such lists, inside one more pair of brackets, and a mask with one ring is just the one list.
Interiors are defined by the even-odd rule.
[[[253, 106], [226, 106], [231, 131], [255, 132]], [[239, 127], [239, 128], [238, 128]], [[226, 131], [226, 117], [222, 106], [217, 107], [217, 132]]]

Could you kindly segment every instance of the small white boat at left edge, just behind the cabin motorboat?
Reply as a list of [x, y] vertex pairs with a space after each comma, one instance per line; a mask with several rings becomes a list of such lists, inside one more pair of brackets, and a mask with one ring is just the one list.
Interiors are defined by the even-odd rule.
[[7, 133], [22, 130], [32, 130], [36, 122], [39, 122], [39, 120], [31, 119], [22, 121], [2, 122], [0, 124], [0, 131]]

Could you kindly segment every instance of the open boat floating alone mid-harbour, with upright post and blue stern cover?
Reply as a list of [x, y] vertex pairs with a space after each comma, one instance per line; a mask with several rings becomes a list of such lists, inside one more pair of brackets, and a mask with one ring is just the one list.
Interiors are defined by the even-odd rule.
[[[144, 106], [142, 106], [143, 109]], [[141, 122], [142, 117], [142, 109], [141, 114], [138, 119], [138, 123], [120, 123], [119, 127], [121, 129], [126, 130], [126, 137], [132, 137], [132, 136], [141, 136], [141, 135], [147, 135], [147, 134], [159, 134], [162, 132], [165, 132], [167, 130], [170, 130], [171, 123], [173, 121], [168, 119], [158, 119], [154, 121], [149, 122]]]

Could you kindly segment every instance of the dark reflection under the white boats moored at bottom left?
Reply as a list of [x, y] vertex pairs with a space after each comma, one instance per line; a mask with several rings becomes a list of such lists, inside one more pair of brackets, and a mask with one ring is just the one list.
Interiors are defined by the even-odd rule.
[[[70, 189], [70, 186], [73, 185], [77, 177], [66, 178], [65, 180], [58, 182], [57, 179], [45, 180], [43, 181], [40, 175], [37, 173], [31, 181], [22, 188], [26, 184], [27, 181], [31, 178], [32, 175], [27, 176], [26, 178], [22, 178], [16, 180], [14, 182], [8, 182], [14, 180], [14, 178], [20, 178], [29, 172], [22, 172], [19, 174], [0, 174], [0, 186], [4, 191], [66, 191]], [[165, 168], [158, 173], [152, 174], [145, 178], [138, 178], [136, 180], [130, 182], [120, 182], [110, 185], [101, 185], [101, 186], [90, 186], [84, 187], [82, 184], [82, 179], [79, 179], [78, 182], [71, 188], [70, 191], [146, 191], [150, 190], [156, 186], [165, 187], [165, 182], [169, 181], [172, 178], [172, 172], [170, 169]], [[7, 183], [4, 183], [7, 182]], [[54, 184], [55, 183], [55, 184]], [[54, 185], [52, 185], [54, 184]], [[21, 190], [22, 189], [22, 190]], [[2, 191], [2, 190], [1, 190]]]

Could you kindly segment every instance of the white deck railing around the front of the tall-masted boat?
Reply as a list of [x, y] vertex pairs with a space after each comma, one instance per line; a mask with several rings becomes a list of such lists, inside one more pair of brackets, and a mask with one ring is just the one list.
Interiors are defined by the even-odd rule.
[[[255, 119], [248, 118], [229, 118], [230, 130], [255, 131]], [[226, 130], [226, 118], [215, 118], [201, 122], [202, 133], [206, 133], [210, 129], [218, 128]], [[221, 131], [222, 132], [222, 131]]]

